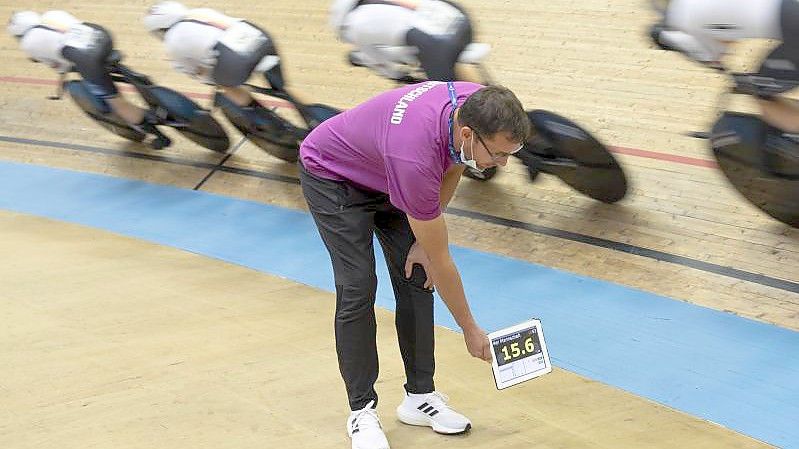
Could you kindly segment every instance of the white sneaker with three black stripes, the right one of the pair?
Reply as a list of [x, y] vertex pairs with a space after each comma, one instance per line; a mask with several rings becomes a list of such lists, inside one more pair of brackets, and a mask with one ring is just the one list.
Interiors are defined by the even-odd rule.
[[437, 392], [426, 394], [406, 393], [397, 407], [397, 417], [405, 424], [428, 426], [444, 434], [463, 433], [472, 428], [469, 419], [447, 405], [449, 399]]

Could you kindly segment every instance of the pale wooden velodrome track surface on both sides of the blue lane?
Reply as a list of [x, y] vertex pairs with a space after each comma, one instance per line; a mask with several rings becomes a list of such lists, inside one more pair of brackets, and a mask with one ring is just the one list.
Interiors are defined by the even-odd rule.
[[[392, 87], [346, 64], [346, 47], [326, 26], [327, 1], [186, 3], [269, 30], [289, 84], [313, 101], [346, 108]], [[799, 230], [746, 203], [714, 168], [705, 142], [682, 135], [709, 126], [725, 81], [653, 49], [645, 39], [653, 19], [648, 2], [462, 3], [476, 21], [478, 40], [493, 46], [487, 64], [494, 78], [526, 107], [557, 111], [612, 145], [631, 190], [617, 205], [599, 204], [551, 177], [530, 184], [514, 160], [488, 183], [461, 183], [447, 218], [453, 244], [799, 330]], [[64, 9], [102, 24], [126, 64], [208, 104], [210, 89], [174, 73], [160, 43], [144, 31], [140, 20], [148, 5], [33, 0], [24, 7]], [[2, 0], [0, 16], [14, 8], [20, 5]], [[759, 51], [757, 44], [745, 46], [736, 63], [750, 64]], [[234, 154], [209, 177], [207, 167], [191, 162], [216, 165], [223, 156], [176, 133], [164, 151], [129, 145], [91, 123], [71, 100], [47, 100], [55, 89], [53, 73], [26, 60], [7, 35], [0, 38], [0, 56], [2, 160], [305, 207], [297, 185], [280, 178], [296, 177], [294, 167], [239, 142], [235, 131]], [[279, 361], [287, 357], [285, 348], [264, 348], [279, 338], [270, 329], [294, 332], [288, 323], [299, 319], [297, 313], [304, 325], [328, 330], [329, 293], [28, 215], [2, 212], [0, 229], [0, 249], [14, 255], [14, 263], [0, 270], [6, 290], [0, 316], [10, 324], [0, 335], [13, 343], [0, 352], [0, 402], [8, 404], [0, 413], [0, 446], [348, 444], [330, 334], [297, 340], [323, 356], [315, 371], [300, 370], [291, 379], [280, 371], [289, 369]], [[574, 235], [586, 238], [581, 243], [569, 237]], [[80, 244], [88, 239], [90, 249]], [[128, 256], [115, 258], [118, 251]], [[217, 273], [210, 279], [208, 267]], [[11, 298], [24, 298], [29, 307]], [[280, 306], [287, 298], [297, 301], [297, 310]], [[135, 316], [134, 323], [124, 324], [126, 316]], [[402, 369], [391, 315], [381, 311], [379, 319], [381, 379], [398, 383]], [[93, 332], [63, 324], [85, 320]], [[439, 376], [457, 405], [474, 410], [472, 419], [482, 423], [467, 438], [447, 440], [448, 447], [763, 445], [563, 370], [521, 390], [542, 405], [520, 414], [523, 398], [498, 396], [482, 367], [467, 360], [459, 336], [443, 329], [440, 334], [439, 348], [456, 349], [439, 349]], [[128, 338], [136, 343], [124, 343]], [[125, 377], [131, 371], [136, 374]], [[422, 429], [401, 429], [391, 417], [398, 399], [393, 390], [381, 393], [392, 447], [443, 441]], [[486, 403], [491, 410], [479, 407]]]

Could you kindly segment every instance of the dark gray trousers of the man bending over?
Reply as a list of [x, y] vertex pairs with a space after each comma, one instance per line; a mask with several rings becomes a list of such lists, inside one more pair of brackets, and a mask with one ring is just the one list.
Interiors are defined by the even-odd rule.
[[383, 248], [397, 301], [405, 389], [434, 391], [433, 293], [423, 287], [426, 275], [421, 266], [414, 266], [411, 278], [405, 278], [405, 259], [414, 242], [407, 216], [384, 193], [319, 178], [299, 165], [303, 195], [333, 263], [336, 352], [350, 408], [359, 410], [377, 401], [374, 235]]

